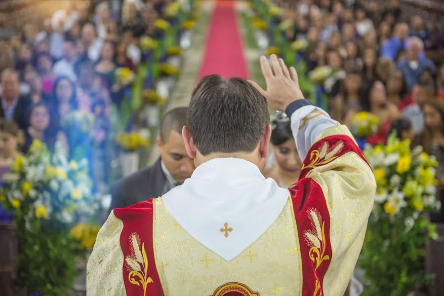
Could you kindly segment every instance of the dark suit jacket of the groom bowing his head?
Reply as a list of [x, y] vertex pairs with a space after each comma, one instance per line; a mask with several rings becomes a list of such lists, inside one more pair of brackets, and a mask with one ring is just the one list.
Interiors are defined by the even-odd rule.
[[150, 167], [119, 180], [111, 188], [110, 212], [161, 195], [166, 177], [161, 168], [161, 158]]

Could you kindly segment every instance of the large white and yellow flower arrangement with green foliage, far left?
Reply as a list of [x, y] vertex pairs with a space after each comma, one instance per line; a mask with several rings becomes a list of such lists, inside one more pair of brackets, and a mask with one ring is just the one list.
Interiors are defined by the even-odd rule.
[[[84, 252], [69, 233], [76, 223], [93, 221], [100, 206], [87, 166], [86, 160], [69, 162], [59, 143], [51, 154], [35, 140], [4, 175], [0, 200], [13, 213], [19, 244], [16, 281], [28, 293], [64, 296], [73, 289]], [[92, 234], [88, 246], [93, 241]]]

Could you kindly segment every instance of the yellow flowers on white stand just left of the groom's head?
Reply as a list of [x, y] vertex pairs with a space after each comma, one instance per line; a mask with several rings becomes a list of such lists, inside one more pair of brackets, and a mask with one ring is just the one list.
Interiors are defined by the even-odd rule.
[[148, 148], [150, 146], [149, 139], [140, 133], [129, 132], [117, 134], [116, 142], [121, 148], [120, 161], [123, 177], [137, 172], [139, 169], [138, 149]]

